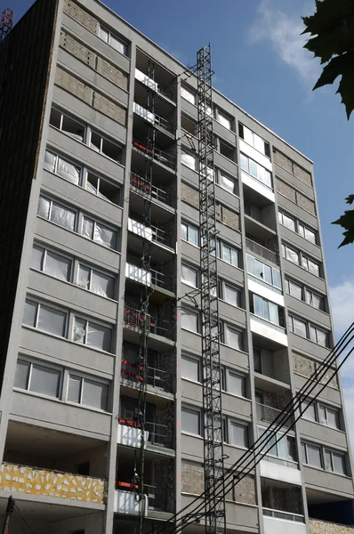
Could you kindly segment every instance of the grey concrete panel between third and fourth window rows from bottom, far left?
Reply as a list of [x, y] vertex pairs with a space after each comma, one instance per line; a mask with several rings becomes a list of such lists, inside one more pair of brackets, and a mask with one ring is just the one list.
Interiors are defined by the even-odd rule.
[[94, 263], [97, 258], [101, 266], [108, 271], [119, 269], [120, 254], [118, 252], [102, 247], [75, 232], [68, 231], [39, 217], [36, 220], [36, 239], [43, 239], [52, 247], [59, 244], [68, 254], [77, 255], [90, 263]]

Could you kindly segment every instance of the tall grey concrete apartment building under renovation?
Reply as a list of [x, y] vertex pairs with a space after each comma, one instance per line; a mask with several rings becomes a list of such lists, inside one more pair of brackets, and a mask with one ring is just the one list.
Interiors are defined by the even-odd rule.
[[[197, 77], [97, 0], [37, 0], [0, 67], [1, 514], [157, 530], [205, 488]], [[311, 161], [221, 93], [208, 113], [227, 469], [334, 336]], [[334, 376], [227, 533], [352, 534], [353, 498]]]

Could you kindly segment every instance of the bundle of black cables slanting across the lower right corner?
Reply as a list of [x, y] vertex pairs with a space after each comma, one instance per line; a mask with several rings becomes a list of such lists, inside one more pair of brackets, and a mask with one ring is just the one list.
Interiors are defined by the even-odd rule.
[[[269, 427], [267, 429], [267, 432], [264, 433], [261, 436], [261, 438], [259, 438], [257, 441], [255, 441], [254, 444], [253, 444], [253, 447], [248, 449], [245, 452], [245, 454], [242, 457], [240, 457], [234, 465], [231, 465], [226, 470], [226, 472], [223, 474], [224, 481], [225, 481], [225, 478], [228, 478], [230, 476], [230, 473], [232, 473], [232, 475], [234, 476], [235, 471], [237, 471], [239, 468], [242, 467], [242, 470], [244, 470], [245, 467], [247, 467], [249, 464], [243, 465], [243, 466], [240, 465], [240, 464], [247, 459], [247, 456], [248, 457], [250, 457], [250, 456], [254, 457], [256, 449], [259, 449], [261, 447], [261, 444], [262, 444], [262, 446], [264, 446], [264, 445], [269, 444], [270, 441], [272, 441], [274, 435], [278, 432], [278, 430], [281, 429], [284, 426], [284, 424], [286, 423], [286, 421], [290, 417], [293, 416], [295, 409], [298, 408], [297, 405], [300, 405], [301, 402], [303, 402], [304, 400], [306, 400], [307, 397], [309, 397], [309, 394], [318, 386], [318, 384], [320, 384], [321, 379], [326, 375], [327, 368], [330, 368], [333, 365], [334, 361], [337, 360], [339, 358], [339, 356], [341, 356], [342, 352], [348, 347], [348, 345], [350, 344], [350, 342], [352, 341], [352, 339], [354, 337], [354, 336], [352, 336], [353, 330], [354, 330], [354, 323], [352, 325], [350, 325], [350, 328], [348, 328], [348, 330], [344, 333], [344, 335], [342, 336], [340, 341], [335, 345], [334, 349], [332, 351], [330, 351], [328, 353], [328, 355], [326, 356], [326, 359], [323, 360], [323, 362], [321, 362], [319, 364], [318, 369], [315, 371], [315, 373], [313, 373], [312, 376], [310, 376], [310, 378], [306, 381], [306, 383], [303, 384], [302, 388], [299, 390], [299, 392], [297, 392], [295, 394], [294, 398], [292, 398], [292, 400], [287, 404], [286, 408], [284, 410], [282, 410], [278, 414], [278, 417], [276, 417], [276, 419], [271, 423], [271, 425], [269, 425]], [[337, 351], [339, 349], [340, 349], [341, 352], [337, 353]], [[352, 350], [354, 350], [354, 349], [352, 349]], [[349, 352], [349, 354], [347, 354], [345, 359], [342, 360], [342, 363], [340, 364], [340, 367], [342, 367], [342, 364], [344, 363], [344, 361], [346, 361], [348, 359], [348, 357], [349, 357], [350, 353], [352, 352], [352, 350]], [[334, 370], [334, 375], [333, 376], [335, 376], [338, 373], [338, 370], [339, 370], [340, 367], [338, 367], [337, 369]], [[331, 378], [329, 380], [327, 380], [327, 382], [324, 385], [324, 387], [326, 387], [326, 385], [330, 382], [330, 380], [332, 380], [333, 376], [331, 376]], [[306, 390], [309, 389], [309, 387], [310, 387], [310, 392], [306, 392]], [[322, 389], [320, 389], [320, 391], [317, 393], [316, 397], [312, 401], [310, 401], [310, 403], [313, 402], [318, 397], [318, 394], [323, 391], [324, 387]], [[305, 395], [305, 392], [306, 392], [306, 395]], [[297, 399], [297, 401], [296, 401], [296, 399]], [[294, 402], [294, 401], [296, 401], [296, 402]], [[310, 403], [309, 403], [309, 406], [310, 406]], [[287, 408], [291, 408], [291, 410], [289, 412], [287, 412], [286, 411]], [[302, 416], [302, 413], [304, 411], [305, 410], [301, 411], [300, 417]], [[296, 421], [300, 417], [297, 417]], [[270, 432], [271, 427], [274, 426], [274, 425], [275, 425], [275, 429], [273, 429], [273, 431]], [[291, 428], [293, 428], [293, 427], [294, 427], [294, 424], [290, 426], [290, 428], [286, 431], [286, 433], [283, 433], [283, 435], [279, 438], [279, 440], [283, 439], [283, 436], [286, 435], [289, 432], [289, 430]], [[274, 443], [274, 441], [272, 441], [271, 447], [273, 447], [278, 441], [276, 441], [275, 443]], [[270, 449], [271, 449], [271, 447], [270, 447]], [[268, 452], [268, 450], [266, 451], [266, 453], [263, 456], [265, 456], [267, 454], [267, 452]], [[240, 479], [240, 480], [242, 480], [242, 479]], [[232, 483], [233, 483], [233, 485], [235, 485], [234, 481]], [[220, 485], [222, 486], [223, 484], [220, 484]], [[217, 487], [218, 487], [218, 482], [216, 482], [214, 490], [217, 489]], [[189, 503], [188, 506], [184, 506], [178, 514], [174, 514], [173, 517], [168, 522], [165, 523], [165, 526], [161, 530], [158, 530], [158, 532], [162, 533], [167, 528], [173, 526], [173, 525], [171, 525], [171, 522], [177, 521], [179, 516], [183, 512], [188, 510], [191, 506], [196, 504], [200, 500], [200, 498], [203, 498], [203, 496], [205, 496], [205, 498], [203, 499], [202, 504], [198, 505], [197, 508], [191, 510], [189, 512], [189, 514], [186, 514], [186, 515], [189, 516], [191, 514], [196, 514], [196, 512], [199, 512], [200, 508], [202, 506], [205, 506], [204, 505], [205, 499], [207, 499], [207, 494], [208, 494], [208, 492], [210, 490], [211, 489], [205, 490], [200, 496], [198, 496], [191, 503]], [[168, 524], [168, 523], [170, 523], [170, 524]]]

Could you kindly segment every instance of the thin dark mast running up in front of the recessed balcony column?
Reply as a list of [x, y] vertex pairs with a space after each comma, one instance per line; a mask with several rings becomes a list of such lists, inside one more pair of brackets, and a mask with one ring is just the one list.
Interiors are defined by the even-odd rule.
[[[150, 64], [148, 76], [152, 80], [155, 77], [155, 66]], [[148, 89], [147, 105], [150, 113], [155, 113], [155, 93]], [[145, 160], [145, 195], [144, 195], [144, 211], [142, 214], [144, 226], [151, 227], [151, 186], [153, 175], [153, 161], [155, 156], [155, 141], [156, 131], [152, 125], [149, 125], [147, 134], [147, 150]], [[151, 294], [151, 287], [149, 285], [151, 272], [151, 242], [143, 240], [142, 254], [141, 254], [141, 268], [146, 272], [145, 286], [141, 287], [141, 338], [138, 359], [136, 366], [138, 369], [138, 383], [139, 396], [138, 408], [136, 413], [136, 425], [141, 431], [141, 447], [135, 452], [134, 472], [133, 472], [133, 487], [135, 489], [135, 498], [139, 501], [139, 534], [142, 534], [145, 511], [144, 498], [144, 475], [145, 475], [145, 429], [146, 429], [146, 394], [147, 394], [147, 369], [148, 369], [148, 351], [149, 351], [149, 330], [150, 330], [150, 314], [149, 314], [149, 297]]]

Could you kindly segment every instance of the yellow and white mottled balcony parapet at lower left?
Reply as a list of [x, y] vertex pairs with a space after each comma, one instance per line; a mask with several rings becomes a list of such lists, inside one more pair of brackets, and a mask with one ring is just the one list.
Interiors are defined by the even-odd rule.
[[66, 498], [102, 505], [105, 481], [81, 474], [6, 463], [1, 465], [0, 491]]

